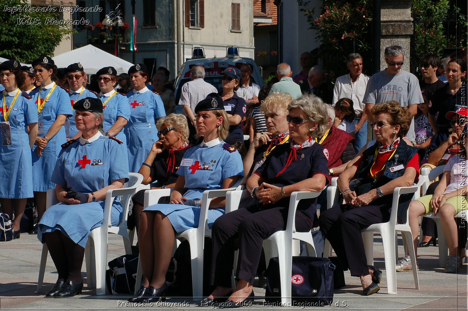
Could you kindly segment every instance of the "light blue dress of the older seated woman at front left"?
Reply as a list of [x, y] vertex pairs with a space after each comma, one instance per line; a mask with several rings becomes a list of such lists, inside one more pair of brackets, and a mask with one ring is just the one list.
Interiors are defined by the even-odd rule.
[[[124, 157], [125, 152], [125, 145], [106, 136], [85, 145], [77, 139], [60, 152], [51, 182], [77, 192], [90, 193], [121, 178], [128, 181], [128, 168], [118, 160]], [[51, 206], [39, 222], [37, 239], [44, 243], [44, 232], [60, 230], [73, 242], [85, 247], [91, 230], [102, 224], [104, 204], [105, 201], [96, 201]], [[116, 225], [121, 219], [122, 205], [116, 199], [110, 220]]]

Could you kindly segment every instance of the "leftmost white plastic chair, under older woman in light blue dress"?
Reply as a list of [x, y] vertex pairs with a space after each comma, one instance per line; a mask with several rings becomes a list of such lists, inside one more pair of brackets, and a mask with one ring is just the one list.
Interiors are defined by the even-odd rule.
[[[127, 230], [127, 213], [128, 207], [131, 200], [131, 195], [135, 192], [135, 189], [139, 186], [143, 176], [138, 173], [129, 173], [129, 181], [125, 183], [124, 188], [110, 189], [106, 194], [106, 203], [104, 206], [104, 217], [102, 225], [91, 231], [88, 239], [88, 243], [85, 247], [86, 256], [86, 272], [88, 287], [96, 288], [96, 295], [105, 295], [106, 293], [106, 261], [107, 261], [107, 241], [108, 233], [115, 233], [122, 236], [124, 240], [125, 253], [132, 253], [132, 245]], [[114, 199], [120, 196], [120, 202], [122, 203], [123, 215], [122, 220], [117, 226], [112, 226], [110, 223], [110, 211]], [[47, 208], [54, 204], [59, 203], [55, 190], [50, 189], [47, 191]], [[42, 246], [41, 263], [39, 267], [39, 277], [37, 280], [37, 293], [42, 290], [42, 283], [44, 281], [45, 265], [47, 262], [47, 253], [49, 249], [44, 243]]]

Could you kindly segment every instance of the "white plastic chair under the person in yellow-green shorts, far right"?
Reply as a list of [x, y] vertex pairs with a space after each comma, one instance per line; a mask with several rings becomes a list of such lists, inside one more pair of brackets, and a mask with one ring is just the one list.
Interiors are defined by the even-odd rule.
[[[422, 195], [426, 195], [427, 188], [431, 184], [431, 181], [435, 180], [437, 177], [439, 177], [440, 174], [444, 173], [444, 166], [437, 166], [434, 167], [433, 169], [430, 169], [429, 167], [423, 167], [421, 168], [421, 176], [424, 179], [424, 183], [421, 186], [422, 189]], [[466, 210], [462, 210], [459, 212], [457, 215], [455, 215], [455, 218], [465, 218], [467, 216]], [[447, 264], [447, 257], [448, 257], [448, 244], [447, 244], [447, 239], [445, 238], [444, 231], [442, 230], [442, 222], [439, 217], [439, 212], [434, 216], [432, 215], [432, 212], [427, 213], [426, 215], [423, 215], [423, 217], [428, 217], [432, 218], [437, 225], [437, 239], [439, 240], [439, 266], [440, 267], [445, 267]], [[419, 230], [419, 236], [422, 239], [423, 238], [423, 231], [422, 229]]]

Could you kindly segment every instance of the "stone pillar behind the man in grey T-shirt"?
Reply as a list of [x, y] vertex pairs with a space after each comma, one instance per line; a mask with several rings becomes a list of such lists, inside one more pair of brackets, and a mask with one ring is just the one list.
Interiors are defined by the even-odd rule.
[[402, 69], [409, 72], [409, 41], [413, 34], [411, 5], [413, 0], [381, 0], [380, 7], [380, 70], [387, 68], [385, 48], [400, 45], [405, 52]]

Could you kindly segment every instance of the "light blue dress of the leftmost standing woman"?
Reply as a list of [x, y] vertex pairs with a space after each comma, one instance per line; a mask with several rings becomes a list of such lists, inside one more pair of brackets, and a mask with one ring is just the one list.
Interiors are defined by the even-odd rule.
[[[3, 145], [3, 137], [0, 132], [0, 197], [7, 199], [21, 199], [33, 196], [32, 191], [32, 163], [29, 147], [28, 124], [37, 123], [37, 107], [31, 97], [20, 93], [11, 107], [15, 98], [5, 93], [6, 107], [9, 111], [8, 122], [11, 128], [12, 145]], [[0, 91], [0, 121], [5, 121], [3, 111], [3, 92]]]

